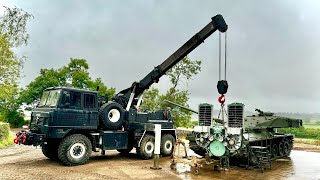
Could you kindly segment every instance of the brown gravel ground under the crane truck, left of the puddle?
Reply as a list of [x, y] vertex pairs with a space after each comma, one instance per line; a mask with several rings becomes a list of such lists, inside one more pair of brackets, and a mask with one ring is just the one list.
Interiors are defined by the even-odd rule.
[[135, 153], [107, 153], [94, 153], [85, 165], [66, 167], [47, 159], [40, 148], [14, 145], [0, 150], [0, 179], [179, 179], [170, 167], [151, 170], [152, 161]]

